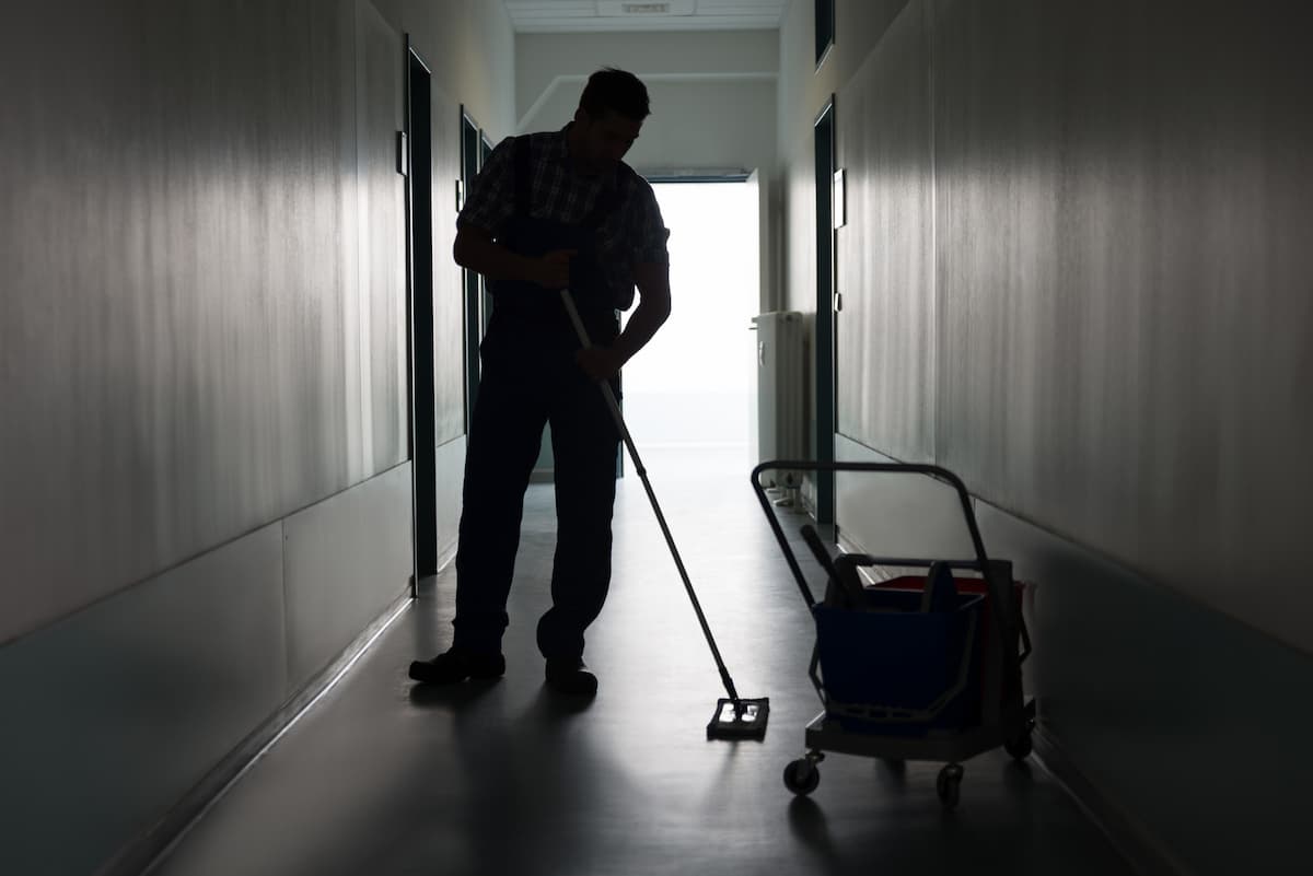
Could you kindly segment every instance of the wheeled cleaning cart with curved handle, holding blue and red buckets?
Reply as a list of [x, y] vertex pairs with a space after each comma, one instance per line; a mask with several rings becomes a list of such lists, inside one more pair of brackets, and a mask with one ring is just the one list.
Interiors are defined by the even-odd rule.
[[[827, 574], [817, 601], [772, 509], [767, 471], [920, 475], [951, 487], [965, 515], [974, 557], [927, 559], [831, 555], [815, 527], [801, 535]], [[970, 497], [937, 466], [898, 463], [765, 462], [752, 488], [811, 611], [817, 644], [810, 677], [825, 707], [806, 727], [806, 754], [784, 770], [797, 795], [821, 782], [826, 751], [945, 766], [936, 789], [957, 805], [961, 762], [995, 747], [1031, 753], [1035, 702], [1022, 688], [1031, 640], [1022, 618], [1024, 585], [1011, 563], [985, 553]]]

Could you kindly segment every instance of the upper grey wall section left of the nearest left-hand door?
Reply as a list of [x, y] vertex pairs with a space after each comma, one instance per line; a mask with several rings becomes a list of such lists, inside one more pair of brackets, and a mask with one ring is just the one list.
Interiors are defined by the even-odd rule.
[[357, 71], [356, 30], [347, 0], [5, 16], [0, 640], [403, 458], [400, 50]]

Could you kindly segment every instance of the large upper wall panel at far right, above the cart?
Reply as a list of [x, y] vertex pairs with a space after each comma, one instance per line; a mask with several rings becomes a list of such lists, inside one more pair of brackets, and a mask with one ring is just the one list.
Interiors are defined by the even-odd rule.
[[940, 460], [1313, 649], [1299, 13], [936, 9]]

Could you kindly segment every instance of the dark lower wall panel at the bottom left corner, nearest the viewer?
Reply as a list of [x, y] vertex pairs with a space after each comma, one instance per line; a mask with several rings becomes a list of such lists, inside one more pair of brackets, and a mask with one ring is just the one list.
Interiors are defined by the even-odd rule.
[[91, 873], [288, 691], [282, 526], [0, 647], [0, 872]]

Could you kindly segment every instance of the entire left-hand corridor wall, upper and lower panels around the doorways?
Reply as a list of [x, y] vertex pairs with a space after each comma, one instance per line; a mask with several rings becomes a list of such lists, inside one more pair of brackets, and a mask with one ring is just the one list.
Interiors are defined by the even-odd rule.
[[408, 593], [407, 31], [450, 555], [457, 113], [509, 130], [512, 34], [473, 0], [3, 20], [0, 872], [137, 872]]

